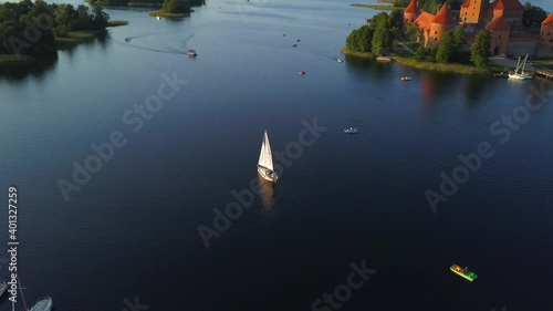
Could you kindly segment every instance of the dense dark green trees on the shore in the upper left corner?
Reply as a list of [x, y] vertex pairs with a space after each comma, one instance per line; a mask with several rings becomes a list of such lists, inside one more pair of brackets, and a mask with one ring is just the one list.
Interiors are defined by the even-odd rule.
[[66, 37], [70, 31], [105, 30], [109, 15], [101, 7], [34, 3], [0, 4], [0, 54], [35, 58], [56, 55], [55, 37]]

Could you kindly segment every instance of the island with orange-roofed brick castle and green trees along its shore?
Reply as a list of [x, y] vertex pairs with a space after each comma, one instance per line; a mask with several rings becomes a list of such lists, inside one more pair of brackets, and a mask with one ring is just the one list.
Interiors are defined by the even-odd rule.
[[[347, 37], [342, 52], [465, 74], [507, 72], [515, 66], [507, 56], [524, 55], [533, 65], [553, 69], [553, 13], [519, 0], [435, 4], [396, 0], [394, 6], [405, 10], [382, 11], [367, 20]], [[458, 14], [452, 6], [458, 6]]]

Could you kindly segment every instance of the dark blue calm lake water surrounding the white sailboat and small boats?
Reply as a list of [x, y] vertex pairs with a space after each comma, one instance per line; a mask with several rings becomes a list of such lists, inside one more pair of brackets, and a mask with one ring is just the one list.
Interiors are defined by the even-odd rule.
[[[107, 12], [129, 24], [43, 70], [0, 74], [1, 187], [18, 188], [29, 304], [51, 294], [56, 311], [315, 310], [365, 261], [376, 272], [361, 288], [316, 307], [551, 310], [553, 83], [344, 58], [374, 11], [341, 1], [208, 0], [181, 21]], [[171, 79], [186, 83], [156, 104]], [[146, 101], [155, 112], [140, 114]], [[517, 131], [501, 124], [513, 113]], [[198, 226], [213, 228], [213, 208], [250, 191], [265, 129], [285, 155], [279, 183], [254, 186], [206, 248]], [[113, 133], [124, 145], [101, 167], [86, 162]], [[459, 173], [459, 155], [482, 142], [493, 155], [434, 212], [425, 191], [440, 193], [440, 173]], [[66, 201], [58, 180], [74, 183], [75, 162], [97, 172]], [[0, 303], [11, 310], [7, 294]]]

